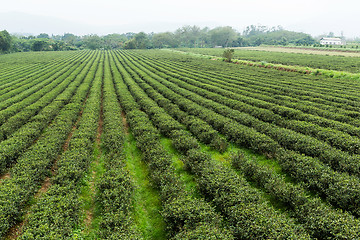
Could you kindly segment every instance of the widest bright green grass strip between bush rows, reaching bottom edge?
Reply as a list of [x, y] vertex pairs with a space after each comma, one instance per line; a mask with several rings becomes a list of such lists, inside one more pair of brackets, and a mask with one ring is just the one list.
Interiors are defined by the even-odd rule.
[[166, 239], [165, 222], [160, 214], [159, 192], [149, 181], [149, 170], [142, 161], [131, 133], [125, 141], [126, 165], [136, 186], [134, 193], [134, 220], [144, 239]]

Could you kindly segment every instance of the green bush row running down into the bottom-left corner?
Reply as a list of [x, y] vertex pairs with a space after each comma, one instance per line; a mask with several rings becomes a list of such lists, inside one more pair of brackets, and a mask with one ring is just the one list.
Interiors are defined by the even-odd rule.
[[45, 177], [50, 176], [50, 170], [79, 116], [95, 70], [96, 66], [94, 65], [79, 88], [73, 90], [76, 90], [74, 96], [69, 93], [65, 94], [65, 92], [59, 96], [59, 99], [63, 99], [67, 104], [61, 110], [58, 106], [53, 106], [58, 111], [54, 122], [40, 139], [18, 159], [18, 163], [11, 169], [11, 178], [1, 182], [0, 236], [4, 236], [11, 226], [21, 220], [29, 200], [39, 190]]

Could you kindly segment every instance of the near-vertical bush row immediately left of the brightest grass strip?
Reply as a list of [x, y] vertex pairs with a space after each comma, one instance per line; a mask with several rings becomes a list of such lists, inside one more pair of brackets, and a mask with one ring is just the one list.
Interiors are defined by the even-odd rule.
[[142, 239], [131, 218], [135, 186], [125, 166], [122, 109], [115, 93], [108, 55], [104, 64], [102, 137], [107, 155], [106, 172], [97, 184], [96, 202], [100, 205], [101, 216], [98, 235], [101, 239]]

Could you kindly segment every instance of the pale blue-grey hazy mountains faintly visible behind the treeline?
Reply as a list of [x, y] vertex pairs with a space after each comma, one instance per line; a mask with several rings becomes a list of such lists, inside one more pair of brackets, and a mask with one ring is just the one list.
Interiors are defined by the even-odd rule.
[[[302, 20], [298, 23], [284, 24], [283, 27], [287, 30], [300, 31], [318, 36], [320, 34], [327, 34], [334, 32], [335, 35], [340, 36], [343, 31], [345, 37], [359, 36], [358, 29], [354, 26], [360, 24], [360, 18], [357, 16], [346, 19], [339, 19], [336, 16], [327, 16], [319, 14], [318, 16], [309, 17], [307, 20]], [[242, 21], [233, 22], [232, 24], [221, 24], [219, 22], [204, 21], [204, 22], [134, 22], [131, 24], [114, 24], [108, 26], [89, 25], [81, 22], [64, 20], [56, 17], [33, 15], [20, 12], [0, 12], [0, 31], [6, 29], [12, 34], [22, 35], [38, 35], [40, 33], [48, 34], [64, 34], [73, 33], [76, 35], [98, 34], [106, 35], [110, 33], [126, 33], [126, 32], [166, 32], [175, 31], [184, 25], [197, 25], [200, 27], [214, 28], [217, 26], [233, 26], [239, 32], [242, 32], [246, 24]], [[266, 23], [262, 23], [267, 25]], [[267, 25], [270, 26], [270, 25]]]

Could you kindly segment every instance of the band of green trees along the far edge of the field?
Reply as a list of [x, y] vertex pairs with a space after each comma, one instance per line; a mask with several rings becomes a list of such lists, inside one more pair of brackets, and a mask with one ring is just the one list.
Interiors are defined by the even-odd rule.
[[232, 27], [183, 26], [174, 32], [123, 33], [105, 36], [64, 35], [11, 36], [0, 32], [0, 52], [68, 51], [81, 49], [150, 49], [177, 47], [243, 47], [268, 45], [311, 45], [316, 41], [308, 34], [284, 30], [282, 27], [248, 26], [242, 33]]

